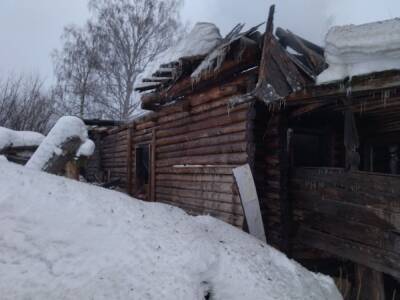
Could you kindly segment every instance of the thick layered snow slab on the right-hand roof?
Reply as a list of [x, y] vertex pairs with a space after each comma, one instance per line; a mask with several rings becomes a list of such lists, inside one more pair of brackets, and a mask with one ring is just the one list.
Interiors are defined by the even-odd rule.
[[399, 18], [333, 27], [325, 42], [329, 68], [318, 77], [318, 83], [400, 69]]

